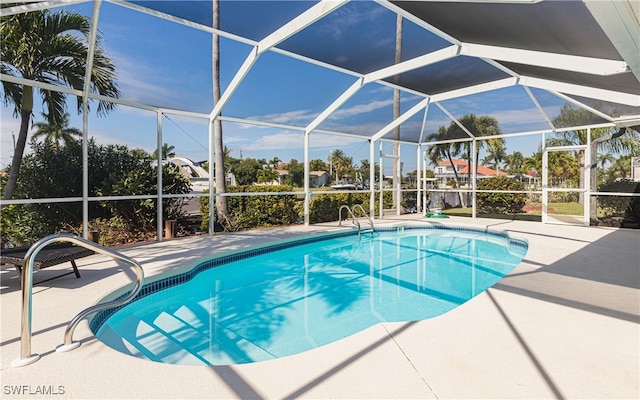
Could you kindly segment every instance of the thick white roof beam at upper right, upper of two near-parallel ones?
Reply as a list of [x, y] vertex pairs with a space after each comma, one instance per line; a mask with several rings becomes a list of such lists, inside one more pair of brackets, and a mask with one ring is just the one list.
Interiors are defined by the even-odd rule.
[[625, 61], [488, 46], [484, 44], [462, 43], [460, 54], [602, 76], [629, 71], [629, 66]]

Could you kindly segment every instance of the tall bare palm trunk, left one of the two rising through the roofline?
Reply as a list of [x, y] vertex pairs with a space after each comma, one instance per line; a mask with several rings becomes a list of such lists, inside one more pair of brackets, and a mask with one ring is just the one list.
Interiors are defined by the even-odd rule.
[[[220, 28], [220, 1], [213, 1], [213, 29]], [[213, 64], [213, 104], [220, 102], [220, 37], [216, 34], [212, 35], [212, 64]], [[227, 192], [226, 174], [224, 169], [224, 142], [222, 140], [222, 121], [216, 118], [213, 122], [213, 136], [215, 145], [215, 168], [214, 179], [216, 193], [222, 194]], [[227, 222], [230, 219], [229, 206], [226, 196], [216, 196], [216, 214], [218, 221]]]

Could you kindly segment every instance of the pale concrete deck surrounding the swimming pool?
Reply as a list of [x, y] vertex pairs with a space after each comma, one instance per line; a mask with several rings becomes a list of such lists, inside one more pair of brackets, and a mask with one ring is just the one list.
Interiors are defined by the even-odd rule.
[[[381, 323], [302, 354], [254, 364], [179, 366], [119, 353], [82, 321], [82, 345], [56, 353], [79, 311], [133, 278], [96, 255], [69, 275], [34, 286], [32, 352], [20, 354], [20, 282], [0, 270], [1, 398], [192, 399], [637, 399], [640, 397], [640, 231], [420, 215], [377, 226], [489, 227], [529, 242], [522, 263], [494, 287], [442, 316]], [[117, 248], [153, 276], [207, 254], [338, 229], [337, 223], [178, 238]], [[342, 228], [344, 229], [344, 227]], [[34, 274], [39, 282], [70, 266]], [[21, 393], [21, 394], [19, 394]]]

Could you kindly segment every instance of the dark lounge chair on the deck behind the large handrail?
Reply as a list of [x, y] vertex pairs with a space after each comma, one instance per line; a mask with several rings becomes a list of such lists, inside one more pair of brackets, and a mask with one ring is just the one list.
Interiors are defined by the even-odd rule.
[[[27, 251], [29, 251], [29, 247], [26, 246], [1, 249], [0, 263], [13, 264], [18, 272], [18, 276], [22, 279], [22, 263], [24, 261], [24, 257], [27, 255]], [[76, 278], [80, 278], [80, 271], [78, 271], [78, 266], [76, 265], [75, 260], [92, 254], [94, 254], [92, 250], [85, 249], [84, 247], [74, 246], [70, 243], [54, 243], [42, 248], [38, 252], [35, 262], [33, 263], [33, 267], [37, 269], [44, 269], [70, 261], [73, 266], [73, 272], [76, 274]], [[50, 279], [59, 278], [61, 276], [69, 275], [70, 273], [71, 272], [68, 272]]]

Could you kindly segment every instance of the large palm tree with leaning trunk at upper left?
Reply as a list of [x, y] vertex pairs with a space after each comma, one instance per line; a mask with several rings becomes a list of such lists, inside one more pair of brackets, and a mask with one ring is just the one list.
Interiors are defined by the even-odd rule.
[[[85, 16], [49, 10], [30, 11], [0, 19], [2, 49], [0, 72], [48, 84], [82, 90], [85, 84], [88, 39], [91, 23]], [[80, 35], [77, 35], [80, 33]], [[117, 98], [120, 91], [115, 83], [116, 69], [96, 38], [91, 69], [90, 90], [107, 97]], [[5, 104], [14, 106], [14, 115], [20, 117], [20, 131], [11, 161], [11, 169], [3, 199], [9, 200], [18, 181], [22, 156], [27, 142], [29, 122], [33, 113], [33, 87], [2, 81]], [[60, 123], [66, 111], [67, 95], [39, 89], [49, 121]], [[115, 103], [98, 102], [98, 115], [105, 115]], [[78, 99], [78, 112], [82, 110]]]

